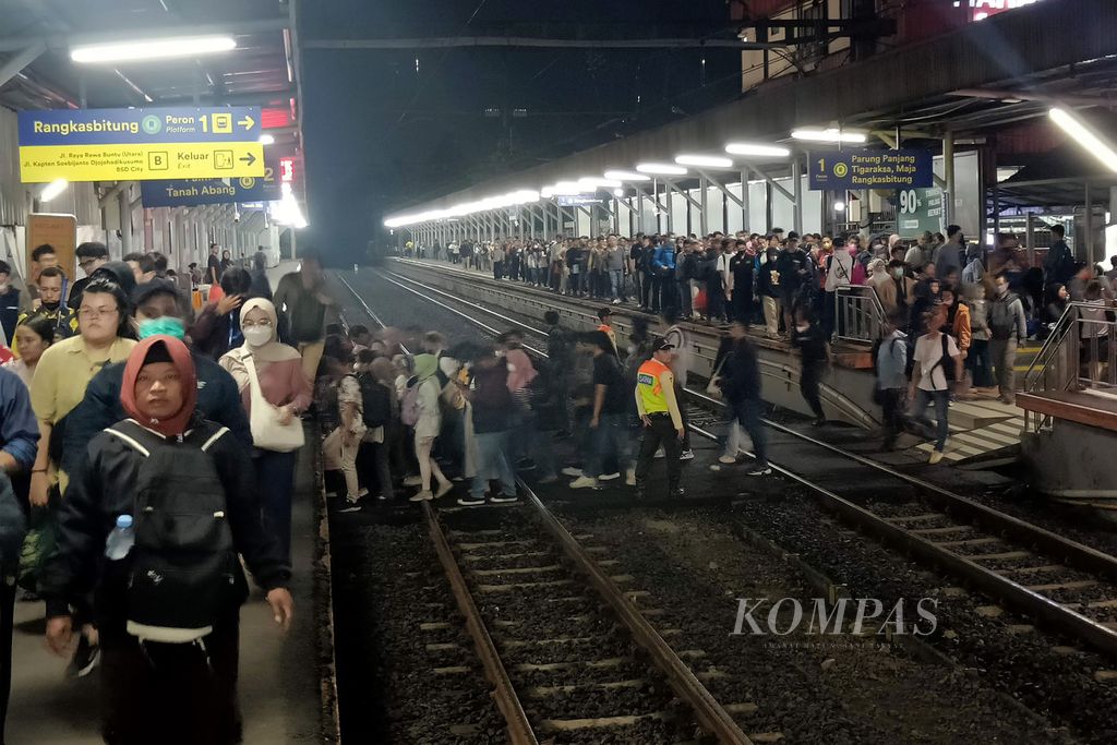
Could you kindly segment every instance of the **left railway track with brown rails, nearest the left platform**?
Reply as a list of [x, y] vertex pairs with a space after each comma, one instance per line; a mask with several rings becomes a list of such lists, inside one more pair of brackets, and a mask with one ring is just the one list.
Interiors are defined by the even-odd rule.
[[[585, 545], [593, 536], [571, 535], [526, 484], [521, 488], [526, 509], [451, 508], [440, 515], [430, 503], [422, 505], [509, 742], [600, 742], [607, 732], [640, 743], [696, 735], [754, 742], [736, 719], [756, 706], [723, 706], [705, 681], [724, 674], [703, 669], [700, 649], [676, 653], [663, 637], [678, 630], [657, 631], [648, 621], [659, 612], [651, 594], [630, 586], [628, 575], [609, 574], [617, 562], [602, 558], [608, 547]], [[498, 525], [478, 527], [478, 516], [489, 523], [495, 517]], [[447, 519], [458, 525], [448, 529]]]

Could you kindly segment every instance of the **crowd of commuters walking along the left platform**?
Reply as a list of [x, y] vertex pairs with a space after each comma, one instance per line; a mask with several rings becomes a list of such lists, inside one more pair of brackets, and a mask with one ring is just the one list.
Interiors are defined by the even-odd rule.
[[286, 629], [300, 416], [336, 303], [313, 255], [275, 302], [262, 255], [218, 258], [200, 311], [161, 255], [76, 258], [73, 284], [49, 246], [23, 287], [0, 266], [0, 733], [23, 593], [70, 677], [99, 666], [106, 742], [240, 742], [241, 567]]

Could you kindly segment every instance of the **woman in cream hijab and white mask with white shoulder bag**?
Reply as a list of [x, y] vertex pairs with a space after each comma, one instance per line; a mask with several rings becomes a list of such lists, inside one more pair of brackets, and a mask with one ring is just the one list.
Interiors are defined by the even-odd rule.
[[[255, 370], [260, 392], [269, 405], [277, 409], [276, 421], [289, 424], [313, 400], [313, 388], [303, 374], [303, 359], [293, 346], [280, 344], [276, 335], [276, 308], [262, 297], [247, 300], [240, 307], [240, 331], [244, 346], [230, 350], [220, 360], [232, 374], [251, 420], [251, 386]], [[250, 364], [249, 364], [250, 363]], [[296, 452], [252, 449], [252, 465], [260, 488], [264, 512], [290, 561], [290, 500], [295, 486]]]

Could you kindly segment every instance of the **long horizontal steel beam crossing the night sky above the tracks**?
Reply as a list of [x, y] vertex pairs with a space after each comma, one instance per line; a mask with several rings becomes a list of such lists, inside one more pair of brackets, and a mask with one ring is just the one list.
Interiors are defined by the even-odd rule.
[[445, 49], [449, 47], [542, 47], [564, 49], [783, 49], [783, 42], [739, 39], [544, 39], [527, 36], [454, 36], [411, 39], [307, 39], [304, 49]]

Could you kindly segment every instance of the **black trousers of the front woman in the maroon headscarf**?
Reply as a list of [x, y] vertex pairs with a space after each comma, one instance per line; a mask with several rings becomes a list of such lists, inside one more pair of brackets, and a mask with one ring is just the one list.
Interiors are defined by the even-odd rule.
[[198, 643], [141, 642], [102, 625], [101, 682], [109, 745], [230, 745], [241, 741], [236, 614]]

